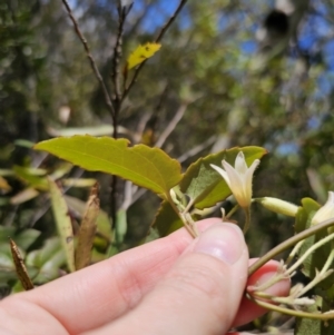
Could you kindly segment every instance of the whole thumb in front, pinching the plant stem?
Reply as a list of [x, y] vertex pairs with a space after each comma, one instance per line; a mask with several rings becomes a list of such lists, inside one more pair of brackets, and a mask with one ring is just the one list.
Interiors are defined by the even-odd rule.
[[240, 229], [226, 223], [213, 225], [188, 246], [143, 302], [109, 331], [225, 334], [237, 313], [247, 267], [248, 250]]

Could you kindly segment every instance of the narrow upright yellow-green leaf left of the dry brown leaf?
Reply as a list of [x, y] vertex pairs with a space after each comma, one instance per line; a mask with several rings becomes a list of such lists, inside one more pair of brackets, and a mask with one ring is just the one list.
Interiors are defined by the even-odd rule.
[[57, 230], [66, 254], [68, 269], [75, 272], [75, 242], [71, 219], [68, 216], [68, 207], [57, 184], [49, 179], [53, 217]]

